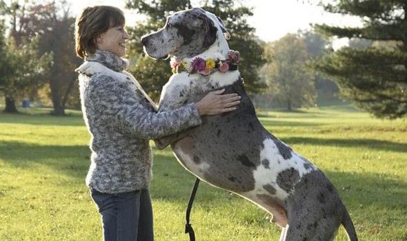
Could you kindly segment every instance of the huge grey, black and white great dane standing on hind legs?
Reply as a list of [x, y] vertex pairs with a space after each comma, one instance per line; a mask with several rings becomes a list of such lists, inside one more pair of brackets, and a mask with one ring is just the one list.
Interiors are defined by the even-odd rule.
[[[197, 57], [227, 59], [225, 33], [221, 19], [193, 8], [171, 14], [163, 28], [141, 42], [150, 57], [176, 56], [188, 66]], [[126, 78], [97, 63], [85, 63], [80, 70]], [[179, 163], [192, 174], [271, 213], [272, 221], [283, 228], [280, 240], [333, 240], [341, 224], [350, 240], [357, 240], [330, 180], [261, 125], [238, 70], [173, 74], [163, 87], [159, 112], [199, 101], [221, 88], [241, 96], [237, 110], [203, 116], [202, 125], [156, 140], [157, 147], [171, 145]]]

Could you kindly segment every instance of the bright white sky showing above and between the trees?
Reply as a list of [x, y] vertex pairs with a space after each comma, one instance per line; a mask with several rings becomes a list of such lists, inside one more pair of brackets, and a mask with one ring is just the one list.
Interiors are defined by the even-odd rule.
[[[199, 0], [192, 0], [193, 7], [199, 7]], [[68, 0], [72, 4], [72, 12], [78, 14], [81, 9], [92, 5], [111, 5], [124, 10], [124, 0]], [[311, 5], [304, 0], [243, 0], [243, 5], [253, 8], [253, 16], [248, 23], [256, 28], [256, 35], [264, 41], [275, 41], [287, 33], [295, 33], [299, 29], [310, 28], [310, 23], [327, 23], [330, 25], [357, 26], [361, 21], [356, 17], [343, 17], [340, 14], [330, 14], [321, 7]], [[142, 20], [134, 11], [125, 10], [126, 24], [132, 25]], [[334, 42], [334, 48], [347, 43], [347, 39]]]

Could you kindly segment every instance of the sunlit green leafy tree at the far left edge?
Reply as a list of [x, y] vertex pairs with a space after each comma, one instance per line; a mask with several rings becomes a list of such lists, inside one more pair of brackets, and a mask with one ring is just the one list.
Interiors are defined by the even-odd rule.
[[0, 0], [1, 19], [8, 17], [11, 26], [7, 48], [10, 69], [8, 77], [3, 78], [6, 112], [17, 112], [15, 106], [17, 94], [27, 91], [30, 86], [38, 87], [43, 83], [45, 67], [49, 65], [52, 55], [39, 56], [37, 40], [41, 31], [48, 28], [47, 25], [39, 24], [41, 19], [49, 14], [48, 6], [49, 4], [35, 5], [28, 1], [24, 1], [23, 5], [17, 1], [6, 4]]

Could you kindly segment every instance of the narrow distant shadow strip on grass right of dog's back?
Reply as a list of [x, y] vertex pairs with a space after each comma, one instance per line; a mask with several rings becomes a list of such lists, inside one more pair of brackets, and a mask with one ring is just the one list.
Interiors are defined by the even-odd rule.
[[388, 140], [375, 139], [338, 139], [338, 138], [310, 138], [310, 137], [288, 137], [283, 139], [288, 145], [324, 145], [330, 147], [363, 147], [381, 151], [407, 152], [407, 144], [393, 143]]

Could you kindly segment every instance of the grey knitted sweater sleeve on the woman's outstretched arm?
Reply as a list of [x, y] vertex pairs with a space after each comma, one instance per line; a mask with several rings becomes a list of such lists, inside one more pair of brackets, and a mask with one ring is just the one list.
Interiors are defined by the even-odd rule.
[[157, 139], [201, 125], [195, 103], [156, 113], [140, 103], [144, 97], [132, 89], [133, 83], [117, 81], [110, 76], [95, 77], [91, 94], [93, 105], [98, 105], [104, 114], [112, 116], [137, 136]]

